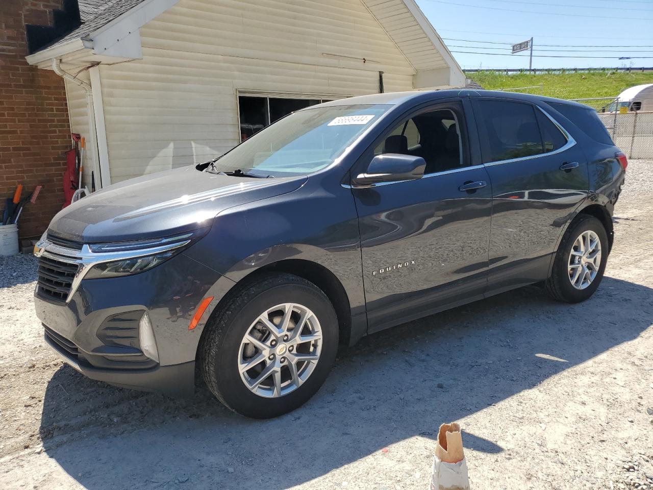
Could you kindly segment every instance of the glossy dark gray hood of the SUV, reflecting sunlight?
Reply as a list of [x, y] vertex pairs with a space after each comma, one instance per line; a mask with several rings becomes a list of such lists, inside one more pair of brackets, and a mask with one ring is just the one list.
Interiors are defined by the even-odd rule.
[[211, 225], [227, 208], [295, 191], [306, 180], [236, 177], [182, 167], [92, 193], [57, 213], [48, 233], [85, 243], [164, 237]]

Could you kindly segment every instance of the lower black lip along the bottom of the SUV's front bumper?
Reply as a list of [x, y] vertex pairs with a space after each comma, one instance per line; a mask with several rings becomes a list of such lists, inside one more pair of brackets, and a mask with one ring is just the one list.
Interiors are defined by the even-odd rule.
[[[189, 397], [195, 391], [195, 361], [172, 366], [160, 366], [149, 369], [101, 369], [79, 359], [71, 353], [76, 348], [50, 329], [44, 335], [48, 344], [71, 367], [87, 378], [103, 381], [108, 384], [138, 389], [141, 391], [156, 391], [174, 397]], [[74, 346], [74, 347], [73, 347]]]

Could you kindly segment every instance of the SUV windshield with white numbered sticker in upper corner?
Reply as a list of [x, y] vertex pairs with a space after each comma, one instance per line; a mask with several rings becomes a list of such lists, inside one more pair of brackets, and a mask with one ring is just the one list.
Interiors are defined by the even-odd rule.
[[317, 172], [333, 163], [390, 107], [360, 104], [300, 110], [245, 140], [206, 170], [255, 176]]

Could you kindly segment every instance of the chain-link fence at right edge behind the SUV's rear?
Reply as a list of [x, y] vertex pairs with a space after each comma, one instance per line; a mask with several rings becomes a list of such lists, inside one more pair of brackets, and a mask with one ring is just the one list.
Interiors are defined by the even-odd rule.
[[614, 144], [628, 158], [653, 158], [653, 112], [631, 110], [630, 102], [618, 97], [573, 100], [597, 110]]

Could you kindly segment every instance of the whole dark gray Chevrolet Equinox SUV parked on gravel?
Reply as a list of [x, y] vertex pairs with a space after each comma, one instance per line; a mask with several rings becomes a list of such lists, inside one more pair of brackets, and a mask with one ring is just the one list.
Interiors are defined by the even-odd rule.
[[306, 402], [339, 344], [542, 283], [588, 299], [627, 161], [594, 110], [491, 91], [299, 110], [213, 161], [65, 208], [37, 316], [72, 367], [240, 414]]

